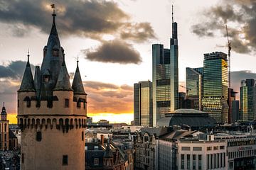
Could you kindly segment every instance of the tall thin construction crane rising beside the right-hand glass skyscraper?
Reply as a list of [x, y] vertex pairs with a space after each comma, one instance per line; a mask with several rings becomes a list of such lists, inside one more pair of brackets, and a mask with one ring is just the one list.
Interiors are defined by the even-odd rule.
[[225, 25], [228, 38], [228, 123], [232, 122], [232, 99], [231, 99], [231, 74], [230, 74], [230, 51], [231, 43], [228, 37], [228, 26]]

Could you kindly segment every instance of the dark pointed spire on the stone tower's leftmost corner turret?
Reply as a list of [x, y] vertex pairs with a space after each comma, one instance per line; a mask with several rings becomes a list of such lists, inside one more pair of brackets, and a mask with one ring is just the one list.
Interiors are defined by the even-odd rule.
[[33, 75], [31, 72], [31, 66], [29, 63], [29, 52], [28, 52], [28, 61], [26, 64], [26, 69], [25, 72], [23, 74], [23, 78], [21, 81], [21, 86], [20, 89], [18, 91], [35, 91], [35, 87], [34, 87], [34, 82], [33, 82]]

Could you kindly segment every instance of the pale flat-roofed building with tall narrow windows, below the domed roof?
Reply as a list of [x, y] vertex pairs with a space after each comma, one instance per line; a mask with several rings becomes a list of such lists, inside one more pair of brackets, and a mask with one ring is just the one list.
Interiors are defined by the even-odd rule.
[[178, 169], [227, 169], [226, 142], [178, 140]]

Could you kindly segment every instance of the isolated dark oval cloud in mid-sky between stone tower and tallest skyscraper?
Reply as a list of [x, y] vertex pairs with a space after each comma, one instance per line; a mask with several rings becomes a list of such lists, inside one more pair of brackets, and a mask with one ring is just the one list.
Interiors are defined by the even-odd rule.
[[132, 45], [121, 40], [102, 42], [94, 51], [83, 50], [86, 59], [95, 62], [112, 62], [119, 64], [139, 64], [142, 62], [139, 52]]

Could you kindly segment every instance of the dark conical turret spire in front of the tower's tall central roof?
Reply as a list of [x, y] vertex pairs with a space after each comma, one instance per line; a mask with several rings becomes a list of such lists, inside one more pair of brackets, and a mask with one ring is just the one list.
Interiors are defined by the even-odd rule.
[[63, 54], [63, 63], [60, 68], [60, 74], [56, 83], [55, 91], [73, 91], [70, 86], [70, 77], [68, 74], [67, 67], [65, 65], [65, 54]]

